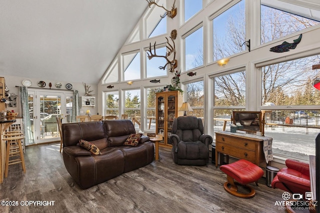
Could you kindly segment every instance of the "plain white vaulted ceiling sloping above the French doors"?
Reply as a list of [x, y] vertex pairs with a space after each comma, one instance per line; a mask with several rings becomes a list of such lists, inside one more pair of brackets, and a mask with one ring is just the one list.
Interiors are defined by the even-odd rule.
[[0, 76], [97, 83], [145, 0], [1, 0]]

